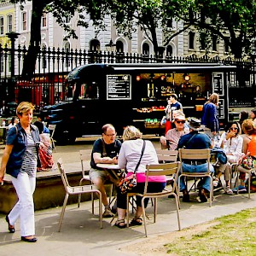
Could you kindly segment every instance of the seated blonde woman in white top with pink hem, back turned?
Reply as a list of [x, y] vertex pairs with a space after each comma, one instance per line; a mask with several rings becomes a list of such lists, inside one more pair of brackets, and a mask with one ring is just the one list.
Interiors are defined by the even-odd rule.
[[[119, 151], [118, 164], [121, 169], [127, 171], [127, 175], [130, 176], [137, 166], [137, 163], [141, 157], [143, 149], [142, 133], [134, 126], [127, 126], [123, 133], [122, 146]], [[130, 192], [142, 193], [145, 186], [145, 172], [147, 164], [158, 164], [157, 154], [154, 149], [153, 143], [146, 141], [143, 157], [140, 165], [137, 169], [137, 186], [130, 190]], [[166, 187], [166, 176], [150, 177], [148, 179], [148, 191], [160, 192]], [[125, 224], [125, 212], [126, 212], [126, 194], [122, 194], [120, 189], [117, 192], [117, 212], [118, 220], [115, 226], [123, 229], [126, 227]], [[147, 206], [148, 200], [145, 200]], [[137, 196], [137, 211], [134, 218], [131, 220], [131, 225], [142, 225], [143, 219], [142, 198]]]

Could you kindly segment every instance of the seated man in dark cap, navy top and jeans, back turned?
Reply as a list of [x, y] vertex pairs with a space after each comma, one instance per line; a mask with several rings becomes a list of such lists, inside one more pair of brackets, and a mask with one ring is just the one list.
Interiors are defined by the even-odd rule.
[[[204, 148], [212, 148], [211, 138], [207, 136], [207, 134], [200, 133], [199, 131], [202, 129], [201, 120], [191, 118], [189, 120], [189, 134], [183, 135], [179, 139], [177, 144], [177, 148], [187, 148], [187, 149], [204, 149]], [[183, 172], [206, 172], [207, 170], [207, 162], [206, 160], [199, 161], [188, 161], [183, 162]], [[214, 168], [211, 165], [210, 171], [213, 173]], [[207, 201], [207, 192], [211, 189], [211, 179], [210, 177], [202, 177], [201, 178], [201, 189], [199, 191], [199, 197], [202, 202]], [[189, 192], [184, 183], [184, 177], [181, 177], [180, 180], [180, 191], [183, 192], [183, 201], [189, 201]]]

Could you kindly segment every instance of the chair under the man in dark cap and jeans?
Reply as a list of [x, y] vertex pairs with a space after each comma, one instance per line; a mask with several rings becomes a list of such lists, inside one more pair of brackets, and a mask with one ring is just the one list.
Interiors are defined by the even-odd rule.
[[[180, 190], [180, 179], [181, 177], [210, 177], [211, 179], [211, 189], [210, 189], [210, 207], [212, 207], [212, 199], [213, 199], [213, 184], [212, 184], [212, 173], [210, 172], [210, 160], [211, 160], [211, 149], [187, 149], [187, 148], [179, 148], [178, 149], [179, 160], [181, 162], [180, 174], [177, 179], [178, 185], [177, 189]], [[196, 160], [206, 160], [207, 161], [207, 170], [206, 172], [183, 172], [183, 161], [196, 161]]]

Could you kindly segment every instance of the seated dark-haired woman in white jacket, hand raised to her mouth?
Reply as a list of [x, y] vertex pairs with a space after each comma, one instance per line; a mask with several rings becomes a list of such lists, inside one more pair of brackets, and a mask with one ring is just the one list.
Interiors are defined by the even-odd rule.
[[233, 191], [230, 189], [230, 172], [231, 164], [237, 163], [241, 158], [242, 137], [240, 136], [240, 125], [234, 121], [228, 123], [225, 131], [220, 137], [220, 147], [224, 148], [224, 153], [228, 158], [227, 164], [220, 164], [217, 169], [217, 176], [213, 181], [213, 186], [218, 185], [218, 181], [222, 174], [226, 183], [226, 193], [232, 195]]

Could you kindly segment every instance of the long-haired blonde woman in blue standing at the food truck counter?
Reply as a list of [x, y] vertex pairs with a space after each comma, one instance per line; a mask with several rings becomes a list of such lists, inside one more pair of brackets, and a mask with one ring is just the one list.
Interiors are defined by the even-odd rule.
[[205, 132], [210, 137], [216, 136], [219, 131], [217, 112], [218, 100], [218, 94], [212, 93], [202, 110], [201, 124], [205, 125]]

